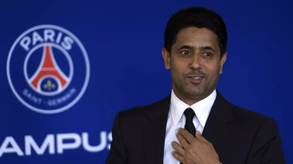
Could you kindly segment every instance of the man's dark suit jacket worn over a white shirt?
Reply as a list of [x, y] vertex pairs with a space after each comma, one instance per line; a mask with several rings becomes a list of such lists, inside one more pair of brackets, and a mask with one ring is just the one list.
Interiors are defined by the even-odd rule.
[[[171, 94], [159, 102], [117, 113], [106, 164], [163, 164]], [[220, 95], [202, 132], [223, 164], [284, 164], [273, 118], [237, 107]], [[170, 152], [171, 153], [171, 152]]]

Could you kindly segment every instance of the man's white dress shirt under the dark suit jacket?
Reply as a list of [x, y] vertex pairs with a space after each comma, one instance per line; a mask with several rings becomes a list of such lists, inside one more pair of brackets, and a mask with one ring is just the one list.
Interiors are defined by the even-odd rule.
[[217, 92], [214, 90], [207, 98], [189, 106], [188, 104], [185, 104], [183, 101], [179, 100], [179, 98], [172, 90], [165, 136], [164, 164], [180, 164], [180, 162], [171, 154], [172, 151], [175, 151], [171, 145], [171, 142], [176, 141], [178, 144], [180, 144], [176, 137], [176, 132], [178, 132], [178, 128], [184, 128], [185, 126], [185, 115], [183, 114], [185, 109], [193, 109], [195, 112], [193, 124], [195, 129], [200, 131], [200, 134], [202, 134], [216, 96]]

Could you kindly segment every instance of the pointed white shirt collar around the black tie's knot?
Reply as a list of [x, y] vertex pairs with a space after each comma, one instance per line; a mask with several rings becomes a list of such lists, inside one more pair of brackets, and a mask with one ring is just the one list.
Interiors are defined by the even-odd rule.
[[170, 109], [171, 109], [171, 116], [173, 119], [173, 124], [177, 126], [181, 116], [183, 115], [183, 112], [187, 108], [193, 109], [195, 112], [198, 120], [200, 121], [200, 124], [202, 127], [205, 127], [205, 123], [207, 122], [207, 118], [209, 116], [209, 112], [212, 109], [212, 106], [214, 104], [214, 101], [216, 99], [217, 92], [214, 90], [208, 97], [206, 97], [203, 100], [200, 100], [199, 102], [189, 106], [188, 104], [185, 104], [183, 101], [181, 101], [174, 93], [172, 89], [171, 93], [171, 103], [170, 103]]

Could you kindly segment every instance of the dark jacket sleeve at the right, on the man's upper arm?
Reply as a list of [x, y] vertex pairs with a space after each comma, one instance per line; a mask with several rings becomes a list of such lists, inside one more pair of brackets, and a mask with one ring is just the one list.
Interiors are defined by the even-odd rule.
[[248, 154], [246, 164], [286, 164], [277, 122], [266, 118]]

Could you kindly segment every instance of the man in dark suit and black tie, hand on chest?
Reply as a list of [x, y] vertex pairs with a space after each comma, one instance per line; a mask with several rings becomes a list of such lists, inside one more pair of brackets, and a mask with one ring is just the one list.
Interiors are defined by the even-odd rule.
[[226, 45], [226, 26], [213, 11], [173, 14], [162, 48], [172, 92], [117, 113], [106, 164], [284, 164], [276, 121], [229, 103], [216, 90]]

